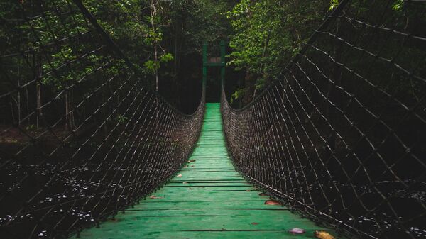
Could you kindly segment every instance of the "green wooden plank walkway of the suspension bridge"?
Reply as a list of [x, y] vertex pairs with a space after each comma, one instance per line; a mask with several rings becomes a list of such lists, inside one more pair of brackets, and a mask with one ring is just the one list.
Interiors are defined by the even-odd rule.
[[[265, 205], [268, 196], [235, 171], [226, 151], [219, 104], [207, 104], [200, 140], [190, 160], [156, 198], [141, 200], [100, 228], [83, 230], [86, 239], [139, 238], [315, 238], [315, 223], [287, 208]], [[292, 235], [291, 228], [305, 234]], [[332, 233], [332, 232], [331, 232]], [[332, 233], [336, 235], [336, 233]]]

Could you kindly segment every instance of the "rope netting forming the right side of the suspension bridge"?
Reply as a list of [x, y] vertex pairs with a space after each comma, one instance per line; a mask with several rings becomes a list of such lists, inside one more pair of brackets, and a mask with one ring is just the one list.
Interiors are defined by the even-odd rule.
[[342, 1], [243, 109], [234, 164], [299, 213], [359, 238], [426, 234], [426, 2]]

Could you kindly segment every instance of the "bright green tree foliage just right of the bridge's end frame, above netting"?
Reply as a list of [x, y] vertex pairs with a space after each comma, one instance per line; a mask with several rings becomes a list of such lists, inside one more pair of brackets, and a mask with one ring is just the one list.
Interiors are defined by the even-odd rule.
[[[331, 4], [334, 7], [338, 2], [332, 0]], [[329, 8], [327, 2], [320, 0], [239, 1], [227, 13], [234, 28], [231, 65], [255, 75], [256, 88], [261, 90], [282, 74]]]

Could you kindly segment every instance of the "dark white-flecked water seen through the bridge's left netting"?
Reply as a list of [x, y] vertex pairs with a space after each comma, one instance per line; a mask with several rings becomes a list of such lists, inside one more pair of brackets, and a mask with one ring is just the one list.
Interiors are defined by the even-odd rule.
[[1, 238], [62, 238], [94, 226], [158, 187], [180, 164], [114, 160], [112, 152], [92, 160], [87, 160], [89, 150], [82, 155], [84, 160], [56, 163], [55, 158], [69, 158], [66, 150], [50, 160], [39, 154], [13, 160], [0, 155]]

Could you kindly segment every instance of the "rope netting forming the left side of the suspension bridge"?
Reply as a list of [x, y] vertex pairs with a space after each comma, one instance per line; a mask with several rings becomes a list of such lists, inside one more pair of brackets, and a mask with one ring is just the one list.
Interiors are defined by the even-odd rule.
[[204, 90], [194, 114], [174, 109], [80, 0], [0, 7], [1, 238], [78, 233], [180, 169]]

